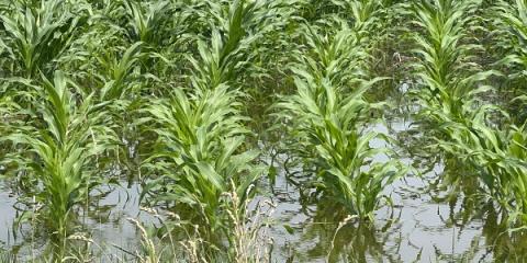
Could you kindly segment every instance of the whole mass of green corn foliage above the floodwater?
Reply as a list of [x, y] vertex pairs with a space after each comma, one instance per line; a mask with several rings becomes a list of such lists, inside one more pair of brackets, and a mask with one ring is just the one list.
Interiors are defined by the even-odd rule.
[[[404, 81], [424, 150], [525, 225], [526, 44], [526, 0], [0, 0], [0, 176], [60, 239], [126, 174], [170, 214], [155, 232], [133, 221], [141, 261], [195, 241], [189, 260], [247, 262], [267, 148], [273, 183], [285, 151], [301, 195], [339, 216], [390, 204], [408, 169], [374, 130]], [[158, 251], [167, 237], [182, 242]]]

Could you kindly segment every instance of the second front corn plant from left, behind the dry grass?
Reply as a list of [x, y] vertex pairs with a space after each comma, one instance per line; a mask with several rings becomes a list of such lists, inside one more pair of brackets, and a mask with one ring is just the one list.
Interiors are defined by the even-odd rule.
[[228, 89], [220, 85], [190, 96], [175, 90], [170, 100], [148, 110], [159, 125], [154, 129], [158, 145], [145, 160], [157, 174], [148, 192], [156, 193], [156, 199], [191, 208], [190, 218], [202, 222], [208, 235], [225, 224], [222, 194], [234, 191], [243, 202], [261, 174], [251, 164], [258, 152], [243, 150], [247, 130], [237, 110], [237, 92]]

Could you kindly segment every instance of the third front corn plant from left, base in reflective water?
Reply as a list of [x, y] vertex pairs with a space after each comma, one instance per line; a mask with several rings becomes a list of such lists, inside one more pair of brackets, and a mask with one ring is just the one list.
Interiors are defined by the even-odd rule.
[[[295, 136], [306, 138], [304, 144], [314, 148], [313, 164], [318, 176], [314, 184], [344, 205], [348, 213], [372, 219], [382, 190], [402, 175], [404, 168], [395, 161], [371, 162], [375, 155], [388, 152], [388, 149], [373, 149], [369, 145], [371, 139], [383, 139], [383, 136], [358, 128], [360, 119], [371, 111], [361, 96], [372, 83], [365, 83], [352, 94], [340, 98], [324, 82], [317, 87], [310, 80], [296, 79], [299, 95], [281, 106], [299, 123], [294, 127]], [[324, 96], [318, 103], [327, 104], [317, 104], [316, 88], [322, 90], [318, 95]], [[361, 171], [367, 163], [370, 164], [368, 171]]]

